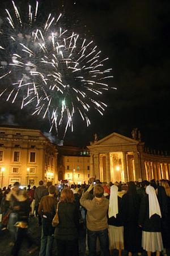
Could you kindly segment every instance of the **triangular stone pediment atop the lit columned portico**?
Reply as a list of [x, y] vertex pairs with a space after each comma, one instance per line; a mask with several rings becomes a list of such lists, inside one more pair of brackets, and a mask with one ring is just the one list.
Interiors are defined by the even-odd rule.
[[125, 137], [124, 135], [118, 133], [109, 134], [107, 137], [100, 139], [100, 141], [95, 142], [92, 146], [104, 146], [104, 145], [118, 145], [118, 144], [134, 144], [137, 145], [139, 142], [135, 139]]

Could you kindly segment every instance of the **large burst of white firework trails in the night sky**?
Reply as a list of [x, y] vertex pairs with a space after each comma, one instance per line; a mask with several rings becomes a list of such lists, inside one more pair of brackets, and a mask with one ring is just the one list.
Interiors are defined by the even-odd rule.
[[[107, 105], [100, 100], [108, 90], [111, 69], [108, 58], [101, 59], [94, 42], [62, 28], [62, 14], [39, 21], [39, 2], [28, 5], [28, 15], [20, 15], [15, 2], [5, 10], [0, 31], [0, 82], [6, 84], [0, 97], [19, 102], [21, 109], [31, 105], [32, 115], [49, 117], [62, 139], [68, 127], [73, 131], [74, 115], [90, 125], [94, 108], [103, 115]], [[2, 88], [2, 86], [1, 86]], [[116, 88], [115, 88], [116, 89]]]

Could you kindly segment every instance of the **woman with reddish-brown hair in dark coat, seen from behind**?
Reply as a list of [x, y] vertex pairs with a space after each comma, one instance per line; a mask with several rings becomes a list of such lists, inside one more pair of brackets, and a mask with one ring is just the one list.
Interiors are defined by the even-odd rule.
[[78, 256], [79, 210], [74, 203], [73, 191], [65, 188], [58, 204], [59, 224], [54, 237], [57, 242], [58, 256]]

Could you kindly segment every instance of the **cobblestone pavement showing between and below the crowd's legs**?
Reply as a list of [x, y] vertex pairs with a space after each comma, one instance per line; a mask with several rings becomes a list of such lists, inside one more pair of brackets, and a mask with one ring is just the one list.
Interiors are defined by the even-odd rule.
[[[29, 254], [29, 251], [27, 249], [27, 242], [24, 241], [23, 245], [20, 249], [19, 256], [28, 256], [28, 255], [29, 256], [30, 255], [38, 256], [39, 255], [39, 249], [40, 249], [41, 227], [38, 225], [38, 221], [37, 221], [36, 217], [30, 218], [28, 233], [31, 235], [31, 237], [39, 245], [39, 248], [35, 251], [35, 253]], [[0, 256], [10, 256], [11, 249], [12, 249], [12, 247], [9, 245], [10, 242], [11, 242], [11, 240], [10, 240], [10, 235], [9, 235], [8, 230], [0, 232]], [[83, 248], [84, 243], [85, 242], [83, 240], [82, 243], [79, 244], [79, 246], [81, 248]], [[153, 255], [155, 255], [155, 254], [153, 254]], [[170, 250], [168, 250], [167, 255], [170, 256]], [[53, 256], [57, 256], [55, 243], [54, 243], [54, 246], [53, 246]], [[85, 255], [81, 254], [79, 256], [85, 256]], [[118, 256], [118, 251], [116, 251], [116, 250], [113, 251], [112, 256]], [[123, 251], [122, 256], [128, 256], [127, 251]], [[133, 256], [137, 256], [137, 254], [134, 254]], [[147, 256], [145, 251], [143, 251], [142, 256]]]

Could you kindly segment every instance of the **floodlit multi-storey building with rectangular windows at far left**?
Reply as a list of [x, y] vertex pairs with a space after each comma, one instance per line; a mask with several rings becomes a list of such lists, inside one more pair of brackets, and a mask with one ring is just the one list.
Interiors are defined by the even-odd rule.
[[[0, 127], [0, 187], [58, 181], [57, 149], [40, 130]], [[54, 183], [53, 182], [53, 183]]]

